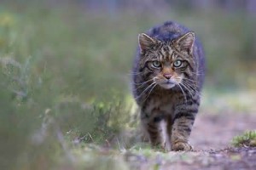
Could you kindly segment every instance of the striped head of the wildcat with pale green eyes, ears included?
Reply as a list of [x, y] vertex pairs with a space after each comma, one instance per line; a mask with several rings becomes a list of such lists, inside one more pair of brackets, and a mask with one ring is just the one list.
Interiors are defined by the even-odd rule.
[[188, 32], [171, 41], [163, 42], [146, 34], [138, 36], [140, 68], [147, 80], [162, 88], [180, 86], [183, 80], [192, 77], [195, 59], [193, 48], [194, 32]]

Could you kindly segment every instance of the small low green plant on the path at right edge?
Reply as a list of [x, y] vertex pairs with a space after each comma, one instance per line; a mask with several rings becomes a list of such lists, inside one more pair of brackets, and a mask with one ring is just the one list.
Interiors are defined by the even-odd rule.
[[232, 144], [235, 147], [256, 147], [256, 130], [247, 131], [240, 136], [234, 137]]

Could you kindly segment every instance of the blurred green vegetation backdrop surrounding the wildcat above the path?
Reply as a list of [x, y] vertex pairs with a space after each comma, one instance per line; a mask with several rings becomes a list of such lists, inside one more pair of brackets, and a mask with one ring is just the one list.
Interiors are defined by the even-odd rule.
[[256, 111], [254, 0], [1, 0], [0, 169], [62, 169], [136, 127], [137, 35], [166, 20], [204, 45], [201, 112]]

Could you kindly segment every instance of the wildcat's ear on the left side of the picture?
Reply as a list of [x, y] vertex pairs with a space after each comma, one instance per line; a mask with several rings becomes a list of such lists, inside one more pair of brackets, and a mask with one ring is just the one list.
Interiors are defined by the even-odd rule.
[[138, 35], [138, 43], [140, 51], [143, 53], [145, 50], [154, 46], [157, 43], [157, 40], [153, 37], [149, 37], [147, 34], [142, 33]]

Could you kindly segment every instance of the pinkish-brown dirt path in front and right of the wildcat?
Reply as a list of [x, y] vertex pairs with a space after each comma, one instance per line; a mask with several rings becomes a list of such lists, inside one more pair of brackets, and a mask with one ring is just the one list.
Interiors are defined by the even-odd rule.
[[[189, 152], [125, 153], [132, 169], [256, 169], [256, 148], [231, 147], [231, 139], [255, 129], [253, 114], [219, 113], [197, 116]], [[142, 151], [143, 152], [143, 151]]]

